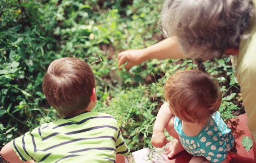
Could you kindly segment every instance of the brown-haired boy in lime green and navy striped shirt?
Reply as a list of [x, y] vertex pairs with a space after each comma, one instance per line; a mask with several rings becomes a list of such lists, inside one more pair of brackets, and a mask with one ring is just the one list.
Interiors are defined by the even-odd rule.
[[65, 117], [43, 124], [15, 138], [1, 150], [15, 162], [117, 162], [130, 150], [117, 120], [109, 114], [91, 112], [97, 96], [90, 66], [77, 58], [61, 58], [49, 65], [43, 79], [46, 100]]

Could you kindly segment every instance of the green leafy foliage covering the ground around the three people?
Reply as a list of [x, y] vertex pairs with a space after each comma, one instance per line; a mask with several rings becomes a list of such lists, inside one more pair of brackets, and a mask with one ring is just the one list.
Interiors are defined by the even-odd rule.
[[[151, 146], [167, 77], [198, 68], [193, 60], [153, 59], [118, 71], [118, 52], [163, 39], [161, 5], [160, 0], [0, 1], [0, 144], [59, 118], [43, 95], [43, 76], [54, 59], [77, 57], [95, 73], [95, 111], [118, 120], [131, 151]], [[229, 59], [213, 61], [203, 64], [220, 81], [220, 112], [228, 119], [238, 109], [231, 102], [238, 95], [228, 96], [229, 91], [239, 86]]]

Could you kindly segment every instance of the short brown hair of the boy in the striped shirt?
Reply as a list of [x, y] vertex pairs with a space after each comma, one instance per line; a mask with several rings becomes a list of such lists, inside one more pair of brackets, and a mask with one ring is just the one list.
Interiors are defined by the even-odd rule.
[[85, 111], [95, 88], [90, 66], [77, 58], [65, 57], [50, 63], [43, 79], [46, 100], [64, 117]]

